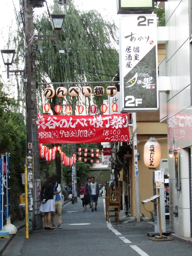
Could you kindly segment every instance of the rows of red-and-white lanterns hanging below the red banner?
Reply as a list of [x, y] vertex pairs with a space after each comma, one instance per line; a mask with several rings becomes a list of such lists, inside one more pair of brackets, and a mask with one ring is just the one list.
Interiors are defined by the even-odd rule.
[[[73, 154], [72, 157], [68, 157], [68, 156], [65, 155], [64, 152], [62, 152], [62, 149], [61, 149], [60, 146], [54, 146], [52, 149], [49, 149], [47, 146], [45, 146], [43, 144], [39, 144], [39, 150], [40, 150], [40, 157], [45, 158], [46, 161], [48, 161], [48, 162], [51, 161], [51, 160], [53, 160], [53, 161], [55, 160], [56, 152], [58, 151], [59, 154], [60, 154], [60, 159], [61, 159], [61, 162], [62, 162], [63, 165], [66, 165], [66, 166], [70, 167], [70, 166], [72, 166], [73, 164], [76, 163], [76, 154]], [[79, 156], [80, 156], [82, 154], [82, 152], [81, 152], [82, 149], [79, 148], [78, 151], [79, 151]], [[87, 152], [88, 152], [88, 149], [85, 149], [85, 153], [84, 153], [85, 157], [87, 157], [87, 155], [88, 155]], [[94, 157], [94, 154], [93, 154], [94, 150], [91, 149], [91, 152], [92, 152], [91, 157]], [[96, 152], [97, 152], [96, 157], [99, 157], [100, 150], [96, 149]], [[79, 157], [78, 160], [82, 161], [82, 157]], [[84, 162], [87, 162], [87, 158], [84, 158]], [[94, 160], [91, 159], [90, 162], [92, 164], [94, 162]], [[96, 163], [99, 164], [100, 161], [97, 160]]]

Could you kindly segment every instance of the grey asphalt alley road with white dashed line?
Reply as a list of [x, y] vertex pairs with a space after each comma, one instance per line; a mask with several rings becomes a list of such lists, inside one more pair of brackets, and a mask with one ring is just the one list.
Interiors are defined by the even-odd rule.
[[105, 220], [104, 200], [99, 197], [97, 211], [82, 211], [82, 202], [63, 206], [62, 229], [35, 230], [29, 239], [25, 229], [17, 232], [2, 255], [192, 255], [192, 245], [182, 240], [153, 242], [147, 232], [154, 227], [148, 221]]

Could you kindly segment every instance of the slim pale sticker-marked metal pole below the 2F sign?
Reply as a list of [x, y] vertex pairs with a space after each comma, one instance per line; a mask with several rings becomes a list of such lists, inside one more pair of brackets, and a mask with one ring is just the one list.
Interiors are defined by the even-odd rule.
[[134, 167], [135, 167], [135, 196], [136, 196], [136, 211], [137, 221], [140, 221], [140, 203], [139, 203], [139, 178], [138, 178], [138, 157], [137, 157], [137, 125], [136, 113], [132, 113], [133, 118], [133, 146], [134, 146]]

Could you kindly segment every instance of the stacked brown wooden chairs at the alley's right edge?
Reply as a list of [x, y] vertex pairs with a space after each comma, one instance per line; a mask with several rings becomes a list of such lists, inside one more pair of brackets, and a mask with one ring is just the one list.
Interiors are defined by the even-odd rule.
[[[111, 195], [111, 193], [113, 193]], [[109, 186], [107, 189], [107, 197], [105, 197], [106, 221], [110, 222], [110, 218], [115, 218], [119, 222], [119, 212], [121, 205], [121, 188], [116, 187], [116, 190], [111, 191]]]

